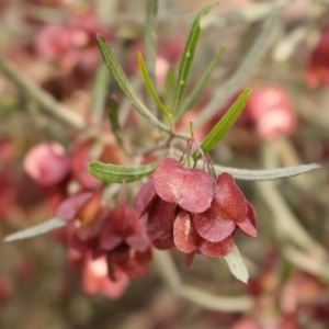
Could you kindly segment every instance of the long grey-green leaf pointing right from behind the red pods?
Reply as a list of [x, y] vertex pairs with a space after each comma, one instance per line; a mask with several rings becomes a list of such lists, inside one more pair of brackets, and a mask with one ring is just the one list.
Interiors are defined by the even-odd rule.
[[246, 181], [269, 181], [279, 180], [282, 178], [294, 177], [306, 173], [308, 171], [321, 168], [318, 163], [292, 166], [285, 168], [263, 169], [263, 170], [251, 170], [251, 169], [239, 169], [232, 167], [214, 166], [216, 173], [228, 172], [237, 180]]

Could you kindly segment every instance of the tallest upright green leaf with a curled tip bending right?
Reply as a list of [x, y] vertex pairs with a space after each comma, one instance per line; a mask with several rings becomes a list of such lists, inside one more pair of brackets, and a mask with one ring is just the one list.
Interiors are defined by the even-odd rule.
[[198, 38], [201, 36], [201, 21], [202, 19], [209, 13], [211, 10], [213, 10], [217, 4], [213, 3], [207, 7], [205, 7], [194, 19], [194, 22], [192, 24], [185, 47], [184, 47], [184, 53], [183, 57], [180, 61], [180, 67], [179, 67], [179, 76], [178, 76], [178, 88], [175, 92], [175, 98], [174, 98], [174, 107], [173, 107], [173, 113], [178, 112], [178, 109], [181, 104], [185, 88], [186, 88], [186, 81], [191, 71], [191, 65], [194, 58], [196, 45], [198, 42]]

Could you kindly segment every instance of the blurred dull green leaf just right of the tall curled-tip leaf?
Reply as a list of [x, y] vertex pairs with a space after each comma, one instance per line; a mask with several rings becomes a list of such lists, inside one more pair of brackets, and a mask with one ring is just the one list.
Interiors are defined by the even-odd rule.
[[219, 59], [222, 58], [222, 55], [224, 53], [224, 47], [220, 48], [214, 59], [209, 63], [209, 65], [206, 67], [204, 73], [197, 79], [197, 83], [191, 91], [190, 95], [185, 99], [183, 102], [179, 113], [175, 115], [175, 122], [179, 122], [182, 116], [192, 109], [194, 103], [200, 99], [200, 94], [205, 87], [205, 84], [208, 82], [209, 78], [212, 77], [215, 67], [218, 65]]

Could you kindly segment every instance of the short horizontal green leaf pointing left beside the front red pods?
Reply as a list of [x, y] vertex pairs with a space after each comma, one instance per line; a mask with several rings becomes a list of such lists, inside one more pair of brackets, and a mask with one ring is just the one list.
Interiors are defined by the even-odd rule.
[[131, 183], [151, 174], [157, 169], [157, 163], [145, 166], [117, 166], [92, 161], [88, 164], [89, 172], [97, 179], [106, 183]]

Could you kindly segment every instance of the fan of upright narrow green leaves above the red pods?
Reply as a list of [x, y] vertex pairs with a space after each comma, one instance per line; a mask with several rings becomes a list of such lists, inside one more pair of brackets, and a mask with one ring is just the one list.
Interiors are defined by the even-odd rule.
[[126, 98], [132, 102], [133, 106], [136, 111], [144, 117], [146, 117], [154, 126], [157, 128], [164, 131], [164, 132], [173, 132], [174, 125], [181, 120], [182, 115], [191, 109], [193, 103], [197, 100], [203, 87], [206, 84], [211, 77], [211, 72], [214, 69], [215, 64], [218, 63], [222, 50], [216, 55], [215, 59], [211, 63], [211, 65], [206, 68], [204, 75], [200, 78], [198, 83], [192, 90], [190, 97], [183, 100], [188, 78], [191, 72], [193, 58], [196, 52], [196, 46], [202, 33], [202, 19], [208, 14], [217, 4], [211, 4], [204, 8], [194, 19], [191, 31], [189, 33], [183, 56], [181, 58], [179, 69], [178, 69], [178, 77], [173, 79], [174, 75], [172, 70], [168, 73], [167, 81], [170, 81], [167, 87], [169, 90], [166, 91], [166, 94], [172, 94], [167, 99], [172, 99], [172, 101], [168, 104], [164, 104], [155, 87], [152, 79], [150, 78], [150, 73], [147, 70], [147, 66], [144, 61], [141, 54], [138, 54], [138, 65], [140, 68], [140, 72], [145, 82], [145, 86], [151, 95], [154, 102], [156, 103], [158, 110], [161, 112], [163, 117], [168, 120], [168, 124], [163, 124], [157, 115], [155, 115], [139, 99], [136, 91], [134, 90], [133, 86], [128, 81], [127, 77], [125, 76], [124, 71], [120, 67], [115, 56], [107, 45], [105, 39], [98, 35], [98, 44], [99, 48], [102, 53], [104, 63], [109, 70], [111, 71], [113, 78], [117, 82], [118, 87], [122, 89]]

